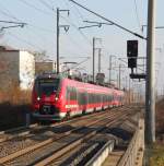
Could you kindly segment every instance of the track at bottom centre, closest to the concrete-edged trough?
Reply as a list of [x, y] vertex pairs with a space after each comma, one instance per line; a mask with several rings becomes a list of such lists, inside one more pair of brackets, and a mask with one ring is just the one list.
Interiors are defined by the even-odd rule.
[[[120, 119], [126, 119], [129, 114], [119, 115]], [[118, 116], [118, 115], [117, 115]], [[116, 116], [116, 117], [117, 117]], [[116, 118], [115, 117], [115, 118]], [[105, 143], [110, 142], [112, 149], [114, 147], [115, 141], [112, 138], [105, 138], [99, 132], [106, 130], [108, 127], [118, 124], [117, 119], [104, 119], [103, 122], [98, 123], [98, 127], [94, 127], [95, 130], [86, 132], [82, 138], [68, 143], [60, 150], [51, 153], [48, 157], [40, 159], [40, 162], [33, 163], [36, 166], [46, 165], [73, 165], [80, 166], [90, 163], [92, 155], [98, 152]], [[70, 155], [70, 152], [72, 154]], [[67, 159], [66, 159], [67, 158]]]

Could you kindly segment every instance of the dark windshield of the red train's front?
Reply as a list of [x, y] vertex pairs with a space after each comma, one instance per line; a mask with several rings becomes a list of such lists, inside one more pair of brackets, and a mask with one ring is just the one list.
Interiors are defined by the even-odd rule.
[[35, 90], [38, 96], [43, 94], [46, 96], [56, 93], [59, 88], [59, 79], [42, 79], [37, 80], [35, 84]]

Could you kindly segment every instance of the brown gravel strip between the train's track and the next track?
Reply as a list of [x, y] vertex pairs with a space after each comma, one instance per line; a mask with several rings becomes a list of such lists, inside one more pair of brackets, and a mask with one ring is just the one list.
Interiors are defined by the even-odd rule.
[[[115, 109], [115, 111], [117, 109]], [[106, 114], [105, 111], [102, 111], [102, 112], [97, 112], [96, 116], [101, 118], [105, 114]], [[71, 131], [73, 131], [74, 128], [84, 126], [84, 123], [90, 121], [90, 119], [92, 120], [96, 119], [95, 115], [92, 114], [89, 116], [75, 118], [70, 121], [56, 123], [50, 127], [43, 127], [39, 128], [39, 130], [33, 129], [33, 131], [31, 131], [30, 133], [25, 132], [25, 135], [20, 133], [19, 137], [13, 137], [13, 139], [0, 143], [0, 150], [1, 150], [0, 157], [4, 157], [16, 151], [21, 151], [27, 146], [35, 145], [48, 139], [49, 141], [51, 141], [51, 137], [59, 138], [59, 135], [69, 134]]]

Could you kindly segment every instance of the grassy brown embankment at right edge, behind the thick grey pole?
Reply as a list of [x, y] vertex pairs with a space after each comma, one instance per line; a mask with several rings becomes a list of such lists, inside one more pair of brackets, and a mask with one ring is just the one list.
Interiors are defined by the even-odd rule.
[[153, 145], [150, 166], [164, 166], [164, 99], [156, 104], [156, 143]]

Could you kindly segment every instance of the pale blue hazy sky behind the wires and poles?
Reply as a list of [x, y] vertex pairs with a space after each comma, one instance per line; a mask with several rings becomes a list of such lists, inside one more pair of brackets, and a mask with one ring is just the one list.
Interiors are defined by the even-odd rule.
[[[77, 1], [126, 28], [147, 36], [147, 27], [144, 27], [143, 32], [141, 32], [141, 27], [147, 24], [148, 0]], [[164, 26], [164, 0], [156, 0], [156, 25]], [[46, 50], [50, 59], [56, 60], [56, 8], [70, 10], [69, 16], [65, 12], [62, 12], [60, 16], [61, 25], [70, 25], [68, 33], [65, 33], [62, 28], [60, 29], [60, 56], [65, 57], [61, 61], [80, 62], [85, 59], [74, 57], [92, 57], [93, 36], [102, 38], [102, 43], [96, 42], [96, 47], [103, 48], [102, 70], [107, 74], [108, 56], [115, 55], [126, 58], [127, 40], [139, 39], [110, 25], [105, 25], [101, 28], [85, 28], [80, 32], [78, 27], [89, 25], [83, 22], [84, 20], [104, 21], [74, 5], [69, 0], [0, 0], [0, 20], [27, 23], [24, 28], [10, 28], [2, 32], [0, 35], [0, 44], [28, 50]], [[0, 27], [1, 26], [8, 26], [8, 24], [1, 23]], [[163, 40], [164, 29], [156, 29], [156, 48], [161, 48], [161, 51], [156, 50], [156, 61], [161, 62], [161, 66], [157, 66], [160, 69], [157, 78], [161, 86], [163, 84], [161, 78], [163, 78], [162, 71], [164, 69]], [[139, 56], [145, 56], [145, 42], [142, 39], [139, 39]], [[91, 72], [92, 59], [81, 67], [85, 67], [85, 70]]]

